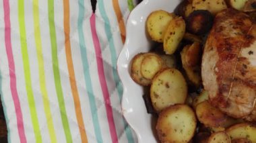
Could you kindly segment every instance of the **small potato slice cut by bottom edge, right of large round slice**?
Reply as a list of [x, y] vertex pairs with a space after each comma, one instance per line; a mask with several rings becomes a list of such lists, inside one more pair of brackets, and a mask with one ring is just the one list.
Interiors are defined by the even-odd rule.
[[210, 136], [208, 143], [231, 143], [231, 140], [226, 132], [216, 132]]

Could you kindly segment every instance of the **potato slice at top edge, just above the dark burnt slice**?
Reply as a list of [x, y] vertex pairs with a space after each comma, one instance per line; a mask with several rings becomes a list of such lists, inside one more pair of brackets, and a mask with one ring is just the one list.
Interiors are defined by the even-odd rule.
[[214, 15], [227, 8], [225, 0], [193, 0], [192, 6], [195, 10], [208, 10]]

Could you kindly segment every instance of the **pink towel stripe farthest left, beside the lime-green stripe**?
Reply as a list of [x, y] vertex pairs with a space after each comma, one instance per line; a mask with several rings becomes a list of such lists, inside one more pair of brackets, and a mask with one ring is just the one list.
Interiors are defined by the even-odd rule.
[[9, 0], [3, 0], [3, 11], [5, 15], [5, 48], [7, 53], [7, 58], [9, 62], [9, 76], [10, 76], [10, 86], [11, 95], [15, 107], [15, 113], [17, 117], [17, 126], [20, 136], [20, 142], [24, 143], [26, 141], [26, 136], [24, 132], [24, 123], [22, 117], [22, 110], [20, 108], [20, 99], [18, 97], [17, 87], [16, 87], [16, 76], [15, 76], [15, 66], [11, 48], [11, 22], [9, 18]]

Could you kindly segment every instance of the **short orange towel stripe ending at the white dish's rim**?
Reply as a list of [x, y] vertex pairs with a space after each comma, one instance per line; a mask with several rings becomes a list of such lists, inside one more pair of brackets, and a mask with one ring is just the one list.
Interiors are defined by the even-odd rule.
[[118, 0], [113, 0], [113, 7], [115, 9], [115, 13], [116, 13], [116, 16], [117, 16], [117, 20], [118, 20], [118, 24], [119, 24], [119, 30], [121, 32], [121, 38], [122, 38], [123, 43], [125, 43], [125, 35], [126, 35], [125, 22], [123, 21], [123, 15], [122, 15], [121, 9], [119, 7], [119, 1]]

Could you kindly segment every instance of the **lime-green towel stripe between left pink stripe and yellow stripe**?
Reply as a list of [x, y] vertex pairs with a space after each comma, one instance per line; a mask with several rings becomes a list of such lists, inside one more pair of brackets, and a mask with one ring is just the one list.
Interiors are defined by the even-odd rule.
[[32, 125], [34, 128], [34, 134], [36, 142], [42, 142], [42, 136], [38, 124], [38, 117], [36, 114], [36, 105], [34, 102], [34, 95], [32, 91], [31, 77], [30, 77], [30, 62], [28, 58], [28, 47], [26, 42], [26, 26], [24, 17], [24, 0], [18, 1], [18, 15], [19, 15], [19, 25], [20, 25], [20, 42], [22, 46], [22, 60], [24, 66], [24, 74], [26, 81], [26, 91], [28, 95], [28, 104], [30, 107], [30, 115], [32, 118]]

